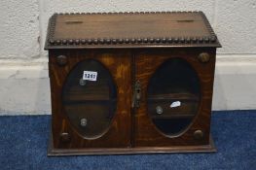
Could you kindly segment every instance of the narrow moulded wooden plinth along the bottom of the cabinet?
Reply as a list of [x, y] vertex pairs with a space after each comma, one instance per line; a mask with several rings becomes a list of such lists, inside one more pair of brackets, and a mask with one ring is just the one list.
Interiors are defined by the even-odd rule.
[[171, 146], [171, 147], [136, 147], [136, 148], [93, 148], [93, 149], [55, 149], [51, 135], [48, 156], [57, 155], [88, 155], [88, 154], [138, 154], [138, 153], [215, 153], [210, 135], [209, 145]]

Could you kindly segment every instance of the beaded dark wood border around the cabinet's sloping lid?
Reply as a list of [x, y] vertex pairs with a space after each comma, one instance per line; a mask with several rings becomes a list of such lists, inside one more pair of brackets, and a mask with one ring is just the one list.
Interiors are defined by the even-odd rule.
[[[94, 38], [94, 39], [55, 39], [55, 21], [57, 16], [62, 15], [146, 15], [146, 14], [189, 14], [199, 13], [210, 33], [210, 36], [204, 37], [137, 37], [137, 38]], [[49, 21], [48, 36], [45, 49], [50, 47], [84, 47], [98, 45], [162, 45], [162, 46], [180, 46], [180, 45], [215, 45], [221, 47], [217, 40], [208, 19], [201, 11], [195, 12], [119, 12], [119, 13], [60, 13], [54, 14]]]

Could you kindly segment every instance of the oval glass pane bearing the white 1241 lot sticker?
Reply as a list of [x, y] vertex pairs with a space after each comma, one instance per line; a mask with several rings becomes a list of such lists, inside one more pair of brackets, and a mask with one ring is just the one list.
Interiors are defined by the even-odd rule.
[[87, 59], [69, 73], [62, 89], [65, 114], [85, 138], [97, 138], [109, 128], [117, 108], [117, 87], [100, 62]]

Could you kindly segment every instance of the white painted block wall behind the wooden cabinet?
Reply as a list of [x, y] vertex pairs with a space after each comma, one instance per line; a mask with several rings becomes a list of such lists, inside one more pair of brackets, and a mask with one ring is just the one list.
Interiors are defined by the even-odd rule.
[[51, 113], [43, 48], [54, 13], [131, 11], [203, 11], [223, 46], [213, 109], [256, 109], [256, 0], [1, 0], [0, 115]]

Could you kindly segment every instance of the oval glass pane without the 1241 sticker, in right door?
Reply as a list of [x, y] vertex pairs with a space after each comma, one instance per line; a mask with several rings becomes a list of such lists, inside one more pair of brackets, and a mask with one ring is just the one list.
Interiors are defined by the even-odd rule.
[[181, 58], [166, 60], [148, 85], [148, 113], [157, 128], [168, 136], [184, 132], [198, 113], [200, 80]]

